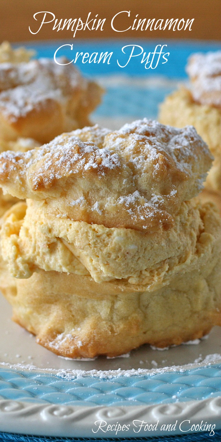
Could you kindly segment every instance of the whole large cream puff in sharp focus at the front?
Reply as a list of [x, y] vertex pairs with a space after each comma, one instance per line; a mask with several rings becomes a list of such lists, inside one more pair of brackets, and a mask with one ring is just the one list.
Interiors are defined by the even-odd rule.
[[70, 358], [180, 344], [221, 324], [221, 218], [194, 198], [211, 163], [193, 127], [147, 119], [3, 152], [0, 186], [27, 198], [0, 232], [13, 319]]

